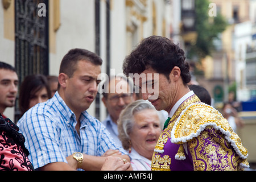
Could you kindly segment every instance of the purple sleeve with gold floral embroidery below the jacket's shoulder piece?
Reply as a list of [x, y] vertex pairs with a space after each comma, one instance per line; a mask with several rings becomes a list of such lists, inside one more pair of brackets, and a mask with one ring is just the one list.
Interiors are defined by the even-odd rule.
[[197, 138], [188, 142], [194, 170], [240, 170], [240, 158], [219, 130], [205, 128]]

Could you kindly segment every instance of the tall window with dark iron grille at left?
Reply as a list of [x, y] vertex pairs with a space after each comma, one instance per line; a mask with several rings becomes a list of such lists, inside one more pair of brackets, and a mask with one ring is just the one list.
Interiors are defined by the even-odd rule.
[[[39, 3], [44, 3], [45, 16], [39, 16]], [[15, 1], [15, 68], [19, 84], [27, 75], [48, 75], [49, 61], [48, 0]], [[15, 121], [18, 121], [18, 98]]]

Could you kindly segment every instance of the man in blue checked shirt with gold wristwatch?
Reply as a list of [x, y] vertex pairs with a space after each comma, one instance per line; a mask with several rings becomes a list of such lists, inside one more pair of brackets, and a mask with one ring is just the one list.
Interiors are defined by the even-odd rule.
[[18, 121], [35, 169], [100, 170], [108, 155], [123, 160], [119, 169], [131, 169], [126, 152], [86, 111], [97, 94], [101, 64], [95, 53], [71, 49], [61, 61], [55, 96], [32, 107]]

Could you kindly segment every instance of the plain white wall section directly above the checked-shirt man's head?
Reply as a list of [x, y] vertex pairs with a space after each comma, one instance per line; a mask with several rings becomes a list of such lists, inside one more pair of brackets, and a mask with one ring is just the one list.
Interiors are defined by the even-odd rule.
[[56, 53], [50, 54], [49, 73], [57, 75], [63, 56], [72, 48], [94, 51], [94, 1], [61, 0]]

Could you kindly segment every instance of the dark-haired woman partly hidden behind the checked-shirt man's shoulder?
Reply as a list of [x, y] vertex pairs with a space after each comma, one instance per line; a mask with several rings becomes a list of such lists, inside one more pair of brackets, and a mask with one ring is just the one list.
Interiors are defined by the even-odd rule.
[[44, 75], [28, 75], [19, 90], [19, 109], [23, 115], [28, 109], [51, 98], [51, 91]]

